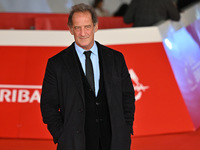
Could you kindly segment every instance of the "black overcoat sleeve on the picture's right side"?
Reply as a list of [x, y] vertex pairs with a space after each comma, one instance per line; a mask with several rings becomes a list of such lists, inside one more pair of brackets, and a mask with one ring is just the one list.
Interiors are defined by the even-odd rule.
[[122, 100], [124, 117], [130, 133], [133, 135], [133, 121], [135, 113], [135, 92], [134, 87], [126, 66], [124, 57], [122, 56]]

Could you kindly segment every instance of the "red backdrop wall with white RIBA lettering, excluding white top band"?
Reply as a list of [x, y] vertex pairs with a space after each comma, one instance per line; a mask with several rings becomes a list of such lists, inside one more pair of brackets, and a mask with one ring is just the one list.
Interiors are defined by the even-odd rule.
[[[136, 90], [135, 135], [193, 126], [162, 43], [110, 45], [121, 50]], [[50, 138], [39, 101], [47, 59], [64, 47], [1, 47], [1, 137]]]

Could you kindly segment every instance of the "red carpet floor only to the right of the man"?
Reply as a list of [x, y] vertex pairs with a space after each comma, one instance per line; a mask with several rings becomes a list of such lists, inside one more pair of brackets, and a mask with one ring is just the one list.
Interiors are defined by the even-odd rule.
[[134, 137], [131, 150], [200, 150], [200, 128], [189, 133]]

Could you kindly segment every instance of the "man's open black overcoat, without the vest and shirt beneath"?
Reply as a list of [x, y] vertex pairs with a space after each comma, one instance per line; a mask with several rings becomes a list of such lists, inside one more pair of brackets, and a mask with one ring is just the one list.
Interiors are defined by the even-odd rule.
[[[111, 150], [129, 150], [134, 89], [120, 52], [98, 42], [110, 112]], [[43, 122], [59, 150], [84, 150], [85, 99], [74, 43], [48, 60], [41, 95]]]

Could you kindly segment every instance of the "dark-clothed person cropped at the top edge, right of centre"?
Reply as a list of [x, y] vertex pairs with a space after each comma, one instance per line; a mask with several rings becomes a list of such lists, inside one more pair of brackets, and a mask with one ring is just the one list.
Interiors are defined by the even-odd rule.
[[132, 0], [124, 15], [124, 22], [134, 27], [153, 26], [167, 19], [180, 20], [176, 0]]

